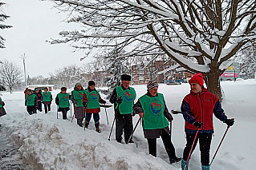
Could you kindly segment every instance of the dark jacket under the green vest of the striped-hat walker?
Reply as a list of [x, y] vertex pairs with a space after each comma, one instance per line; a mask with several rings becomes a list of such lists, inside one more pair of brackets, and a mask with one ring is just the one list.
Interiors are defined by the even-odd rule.
[[[148, 97], [153, 97], [151, 93], [146, 93]], [[156, 94], [158, 96], [158, 94]], [[133, 113], [139, 114], [139, 113], [144, 113], [144, 110], [142, 109], [142, 105], [140, 101], [138, 100], [135, 105], [133, 105]], [[173, 121], [173, 116], [169, 113], [169, 110], [167, 109], [167, 106], [165, 105], [165, 110], [164, 110], [164, 116], [168, 121]], [[170, 134], [169, 127], [165, 128], [157, 128], [157, 129], [143, 129], [144, 130], [144, 137], [148, 139], [152, 138], [159, 138], [162, 134], [162, 129], [164, 129], [168, 134]]]

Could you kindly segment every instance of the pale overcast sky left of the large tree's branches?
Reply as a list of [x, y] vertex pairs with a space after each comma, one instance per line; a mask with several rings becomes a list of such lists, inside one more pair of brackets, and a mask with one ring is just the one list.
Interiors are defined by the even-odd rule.
[[83, 65], [89, 59], [79, 61], [83, 51], [73, 53], [71, 44], [50, 45], [46, 40], [59, 38], [63, 30], [79, 30], [79, 26], [63, 22], [65, 14], [58, 14], [52, 2], [39, 0], [3, 0], [4, 12], [10, 16], [4, 22], [14, 26], [1, 30], [6, 38], [6, 49], [0, 49], [0, 60], [15, 61], [22, 70], [23, 53], [26, 54], [26, 72], [30, 77], [42, 75], [48, 77], [55, 69], [65, 65]]

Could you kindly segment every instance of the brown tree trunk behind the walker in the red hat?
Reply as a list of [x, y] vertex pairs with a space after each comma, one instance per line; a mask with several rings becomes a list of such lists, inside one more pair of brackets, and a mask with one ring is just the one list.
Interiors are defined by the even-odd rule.
[[219, 101], [222, 101], [222, 95], [221, 95], [221, 85], [220, 85], [220, 79], [221, 76], [220, 70], [211, 70], [209, 73], [205, 73], [205, 84], [207, 85], [207, 89], [209, 92], [215, 94]]

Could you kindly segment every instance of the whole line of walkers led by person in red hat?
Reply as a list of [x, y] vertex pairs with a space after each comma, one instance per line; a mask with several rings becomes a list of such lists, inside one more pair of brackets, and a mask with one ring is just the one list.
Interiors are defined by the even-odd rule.
[[[148, 140], [149, 154], [156, 156], [156, 139], [161, 136], [170, 163], [173, 164], [181, 160], [182, 170], [187, 170], [190, 155], [199, 140], [201, 168], [202, 170], [209, 170], [209, 149], [213, 136], [213, 113], [217, 119], [226, 123], [228, 127], [234, 125], [234, 119], [226, 117], [218, 98], [205, 89], [202, 74], [196, 73], [191, 77], [189, 81], [191, 91], [185, 96], [181, 104], [181, 113], [185, 119], [186, 138], [182, 158], [176, 156], [169, 129], [169, 122], [173, 121], [173, 117], [169, 113], [164, 95], [157, 92], [158, 84], [156, 81], [148, 82], [147, 92], [136, 103], [134, 102], [136, 90], [130, 87], [130, 82], [131, 76], [127, 74], [121, 75], [121, 85], [113, 90], [110, 97], [110, 102], [114, 104], [115, 109], [116, 141], [122, 143], [124, 132], [125, 143], [134, 142], [132, 140], [132, 116], [138, 114], [140, 120], [142, 120], [144, 137]], [[46, 88], [44, 93], [39, 93], [39, 95], [36, 93], [36, 89], [35, 94], [30, 89], [27, 90], [27, 112], [33, 114], [36, 113], [36, 109], [42, 111], [42, 106], [38, 105], [42, 101], [45, 113], [47, 113], [47, 109], [51, 110], [51, 92], [48, 92]], [[74, 105], [77, 125], [83, 127], [83, 119], [85, 118], [84, 127], [88, 128], [93, 115], [96, 132], [100, 132], [100, 104], [106, 104], [106, 101], [100, 97], [100, 93], [95, 89], [95, 82], [89, 81], [87, 89], [83, 89], [80, 83], [76, 83], [71, 95], [67, 93], [67, 88], [61, 88], [61, 92], [55, 98], [55, 103], [58, 105], [58, 111], [63, 113], [63, 119], [67, 119], [67, 111], [70, 109], [69, 100]]]

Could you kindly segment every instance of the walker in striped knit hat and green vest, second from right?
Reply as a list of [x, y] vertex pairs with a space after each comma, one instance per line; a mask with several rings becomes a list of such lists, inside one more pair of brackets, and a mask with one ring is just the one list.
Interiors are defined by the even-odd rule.
[[156, 138], [161, 136], [169, 161], [173, 164], [181, 160], [175, 154], [170, 136], [169, 121], [173, 121], [173, 117], [165, 105], [164, 95], [157, 93], [156, 81], [149, 81], [147, 88], [148, 92], [140, 97], [133, 106], [134, 113], [142, 117], [144, 137], [148, 140], [149, 154], [156, 157]]

